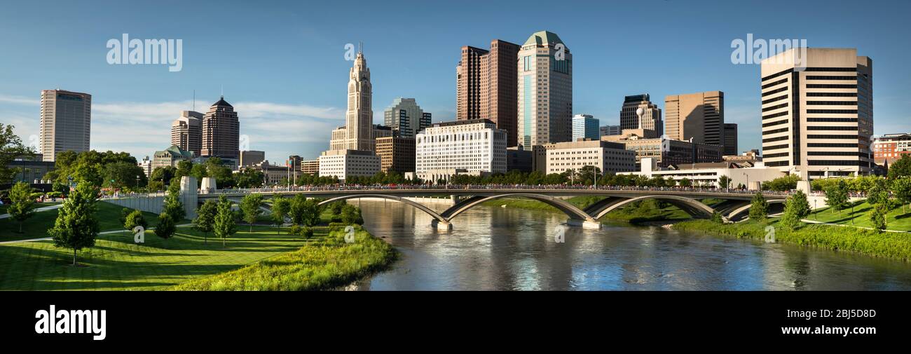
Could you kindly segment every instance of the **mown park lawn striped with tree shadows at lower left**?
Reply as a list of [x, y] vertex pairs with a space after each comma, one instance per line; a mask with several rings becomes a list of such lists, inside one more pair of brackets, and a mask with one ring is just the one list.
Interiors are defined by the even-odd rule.
[[146, 232], [144, 245], [133, 244], [131, 234], [99, 234], [96, 244], [78, 253], [57, 248], [52, 241], [0, 245], [0, 290], [151, 290], [174, 286], [194, 276], [210, 276], [249, 265], [273, 255], [297, 250], [301, 237], [277, 229], [254, 226], [253, 233], [238, 227], [227, 239], [203, 235], [190, 227], [162, 240]]

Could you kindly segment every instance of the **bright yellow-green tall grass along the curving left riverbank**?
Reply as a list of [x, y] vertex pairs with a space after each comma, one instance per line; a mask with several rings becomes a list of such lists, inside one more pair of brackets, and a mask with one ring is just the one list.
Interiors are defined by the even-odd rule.
[[344, 231], [314, 230], [312, 242], [241, 269], [204, 276], [174, 286], [175, 290], [319, 290], [350, 284], [394, 262], [394, 248], [359, 229], [355, 242]]

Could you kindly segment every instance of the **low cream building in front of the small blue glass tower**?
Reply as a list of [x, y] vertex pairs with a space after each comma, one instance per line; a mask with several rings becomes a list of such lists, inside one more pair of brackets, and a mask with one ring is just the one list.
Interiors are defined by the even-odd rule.
[[602, 173], [636, 171], [636, 152], [626, 150], [618, 142], [558, 142], [544, 145], [544, 149], [547, 151], [547, 174], [579, 171], [585, 166], [598, 167]]

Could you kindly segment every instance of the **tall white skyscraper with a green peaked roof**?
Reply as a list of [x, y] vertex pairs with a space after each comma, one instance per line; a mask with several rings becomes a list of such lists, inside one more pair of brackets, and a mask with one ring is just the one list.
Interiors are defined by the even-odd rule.
[[518, 53], [518, 143], [572, 140], [572, 54], [560, 38], [541, 31]]

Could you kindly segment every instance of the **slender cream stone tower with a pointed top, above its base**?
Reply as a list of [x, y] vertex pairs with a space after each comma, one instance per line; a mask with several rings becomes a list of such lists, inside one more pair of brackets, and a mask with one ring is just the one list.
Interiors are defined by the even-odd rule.
[[345, 112], [347, 150], [373, 151], [373, 85], [363, 52], [358, 51], [348, 78], [348, 110]]

